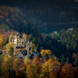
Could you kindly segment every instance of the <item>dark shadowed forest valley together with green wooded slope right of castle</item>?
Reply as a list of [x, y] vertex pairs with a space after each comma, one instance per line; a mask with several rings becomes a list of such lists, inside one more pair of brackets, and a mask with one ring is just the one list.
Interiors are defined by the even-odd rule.
[[[22, 26], [21, 26], [22, 27]], [[9, 27], [1, 25], [0, 29], [9, 31]], [[15, 29], [18, 31], [19, 28]], [[41, 49], [50, 49], [52, 53], [59, 59], [64, 58], [69, 59], [72, 63], [73, 53], [78, 53], [78, 28], [68, 28], [53, 31], [51, 33], [41, 33], [36, 28], [33, 28], [31, 24], [25, 26], [25, 33], [30, 35], [30, 40], [36, 45], [36, 49], [40, 51]], [[23, 30], [21, 32], [24, 32]], [[20, 32], [20, 33], [21, 33]]]

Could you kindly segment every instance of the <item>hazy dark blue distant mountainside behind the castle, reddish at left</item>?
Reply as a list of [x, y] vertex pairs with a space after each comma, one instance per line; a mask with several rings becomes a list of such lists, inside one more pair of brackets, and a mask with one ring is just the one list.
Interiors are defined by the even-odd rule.
[[[69, 11], [66, 9], [64, 11], [58, 5], [50, 8], [50, 6], [38, 4], [34, 8], [33, 4], [24, 6], [17, 3], [0, 6], [0, 25], [3, 24], [10, 29], [26, 33], [33, 33], [36, 30], [39, 33], [51, 33], [55, 30], [78, 27], [77, 6], [73, 5], [68, 8]], [[42, 6], [44, 7], [41, 8]], [[74, 12], [73, 8], [75, 8]]]

